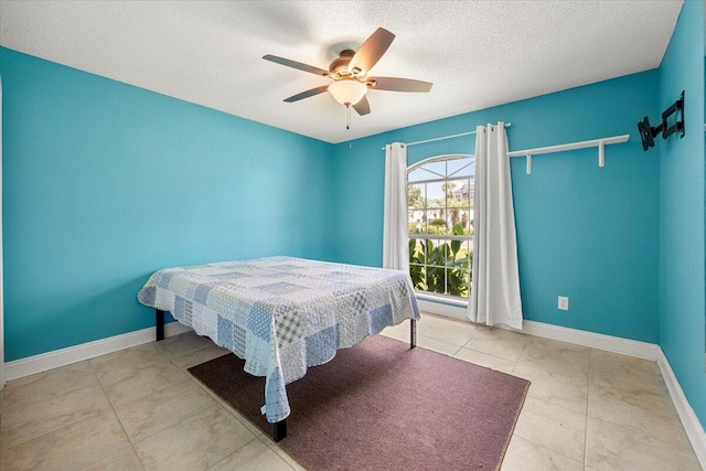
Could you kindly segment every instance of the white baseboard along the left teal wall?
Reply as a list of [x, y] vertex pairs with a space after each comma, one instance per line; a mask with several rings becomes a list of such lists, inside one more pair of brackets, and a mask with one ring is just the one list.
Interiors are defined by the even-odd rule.
[[[184, 327], [179, 322], [170, 322], [164, 324], [164, 336], [179, 335], [180, 333], [189, 332], [191, 328]], [[83, 343], [81, 345], [8, 362], [4, 364], [4, 379], [19, 379], [47, 370], [58, 368], [61, 366], [71, 365], [72, 363], [95, 358], [96, 356], [117, 352], [118, 350], [141, 345], [143, 343], [152, 342], [156, 335], [156, 328], [148, 328], [136, 332], [124, 333], [121, 335], [115, 335], [108, 339], [97, 340], [95, 342]], [[4, 385], [0, 385], [0, 389], [2, 386]]]

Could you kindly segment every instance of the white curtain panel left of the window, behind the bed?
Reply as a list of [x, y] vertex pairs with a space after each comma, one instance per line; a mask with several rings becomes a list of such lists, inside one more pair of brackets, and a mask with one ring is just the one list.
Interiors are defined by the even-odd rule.
[[407, 147], [393, 142], [385, 146], [383, 268], [409, 271], [407, 236]]

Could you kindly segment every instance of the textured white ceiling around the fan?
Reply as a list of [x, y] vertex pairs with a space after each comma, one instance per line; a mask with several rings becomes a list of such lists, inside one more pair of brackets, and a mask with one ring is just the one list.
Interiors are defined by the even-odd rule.
[[328, 68], [383, 26], [397, 35], [371, 75], [432, 82], [368, 92], [353, 138], [657, 67], [674, 1], [13, 1], [0, 44], [329, 142], [349, 138], [327, 83], [264, 61]]

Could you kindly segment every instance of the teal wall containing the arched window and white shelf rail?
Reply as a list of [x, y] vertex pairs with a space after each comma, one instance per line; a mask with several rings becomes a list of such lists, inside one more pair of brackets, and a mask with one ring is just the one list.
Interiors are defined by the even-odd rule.
[[[643, 152], [637, 122], [657, 113], [657, 71], [398, 129], [338, 144], [338, 259], [382, 261], [384, 151], [511, 121], [511, 150], [630, 135], [606, 150], [537, 156], [533, 173], [512, 159], [520, 282], [526, 319], [657, 342], [659, 154]], [[374, 97], [371, 97], [374, 99]], [[463, 137], [409, 148], [409, 163], [435, 154], [473, 153]], [[557, 309], [557, 296], [570, 311]]]

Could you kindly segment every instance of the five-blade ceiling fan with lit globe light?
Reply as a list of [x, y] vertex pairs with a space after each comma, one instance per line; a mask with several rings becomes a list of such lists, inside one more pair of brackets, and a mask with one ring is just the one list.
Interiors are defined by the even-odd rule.
[[351, 50], [341, 51], [340, 56], [331, 62], [328, 71], [270, 54], [263, 56], [263, 58], [333, 79], [331, 84], [321, 85], [290, 96], [285, 101], [298, 101], [329, 92], [341, 105], [346, 108], [352, 106], [359, 115], [363, 116], [371, 113], [371, 106], [365, 97], [365, 93], [368, 89], [416, 93], [426, 93], [431, 89], [429, 82], [367, 76], [370, 69], [377, 64], [377, 61], [385, 54], [394, 39], [395, 35], [393, 33], [378, 28], [357, 52]]

